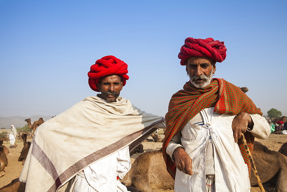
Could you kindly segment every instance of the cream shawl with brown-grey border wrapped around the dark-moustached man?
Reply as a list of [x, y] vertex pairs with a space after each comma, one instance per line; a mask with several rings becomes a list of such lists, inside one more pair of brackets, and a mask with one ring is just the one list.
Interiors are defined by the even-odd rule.
[[57, 191], [90, 164], [136, 147], [163, 120], [123, 97], [87, 97], [37, 128], [19, 180], [26, 191]]

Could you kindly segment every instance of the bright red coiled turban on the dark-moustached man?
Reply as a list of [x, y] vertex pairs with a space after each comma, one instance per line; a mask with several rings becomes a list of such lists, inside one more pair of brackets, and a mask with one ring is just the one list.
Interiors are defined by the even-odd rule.
[[89, 85], [92, 90], [98, 91], [97, 84], [100, 82], [100, 78], [107, 75], [119, 75], [122, 78], [123, 86], [126, 84], [127, 76], [127, 64], [117, 57], [108, 55], [98, 59], [96, 64], [91, 66], [90, 72], [88, 72]]

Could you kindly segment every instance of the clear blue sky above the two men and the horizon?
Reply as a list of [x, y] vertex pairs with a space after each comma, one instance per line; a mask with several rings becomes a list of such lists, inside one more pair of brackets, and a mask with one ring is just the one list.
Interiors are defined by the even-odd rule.
[[177, 57], [187, 37], [224, 41], [214, 77], [248, 87], [263, 115], [287, 115], [286, 10], [286, 0], [0, 0], [0, 116], [54, 116], [96, 95], [87, 73], [106, 55], [129, 66], [121, 96], [165, 116], [189, 80]]

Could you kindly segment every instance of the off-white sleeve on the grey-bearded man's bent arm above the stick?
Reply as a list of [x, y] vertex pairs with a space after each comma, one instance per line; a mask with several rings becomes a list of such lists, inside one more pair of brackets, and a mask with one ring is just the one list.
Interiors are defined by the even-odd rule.
[[253, 128], [247, 130], [258, 139], [267, 139], [271, 133], [270, 126], [267, 120], [259, 114], [250, 114], [254, 123]]

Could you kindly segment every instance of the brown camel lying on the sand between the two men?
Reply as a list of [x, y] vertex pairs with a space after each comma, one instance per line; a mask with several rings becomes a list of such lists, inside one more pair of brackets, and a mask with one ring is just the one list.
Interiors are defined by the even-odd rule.
[[143, 192], [174, 187], [174, 180], [166, 170], [160, 150], [139, 155], [121, 182], [125, 186], [132, 186]]

